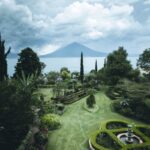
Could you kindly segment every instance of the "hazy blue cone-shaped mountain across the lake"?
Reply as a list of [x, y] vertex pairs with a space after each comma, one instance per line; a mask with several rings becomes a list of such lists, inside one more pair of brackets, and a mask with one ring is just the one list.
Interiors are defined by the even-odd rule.
[[107, 55], [106, 53], [92, 50], [80, 43], [74, 42], [41, 57], [80, 57], [81, 52], [83, 52], [85, 57], [103, 57]]

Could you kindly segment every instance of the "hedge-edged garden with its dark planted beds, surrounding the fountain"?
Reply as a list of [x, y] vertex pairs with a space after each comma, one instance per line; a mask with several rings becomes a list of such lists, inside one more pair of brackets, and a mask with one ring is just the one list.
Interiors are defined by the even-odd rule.
[[[107, 128], [109, 125], [113, 125], [112, 128]], [[101, 149], [114, 149], [114, 150], [124, 150], [124, 149], [132, 149], [132, 150], [148, 150], [150, 146], [150, 141], [145, 133], [143, 134], [143, 128], [145, 131], [149, 130], [148, 125], [138, 125], [136, 124], [136, 128], [133, 127], [133, 133], [138, 135], [142, 140], [142, 144], [124, 144], [120, 140], [118, 140], [117, 136], [119, 133], [127, 132], [127, 125], [130, 124], [126, 121], [119, 120], [110, 120], [106, 122], [101, 122], [100, 129], [92, 134], [90, 137], [90, 143], [92, 147], [96, 150]]]

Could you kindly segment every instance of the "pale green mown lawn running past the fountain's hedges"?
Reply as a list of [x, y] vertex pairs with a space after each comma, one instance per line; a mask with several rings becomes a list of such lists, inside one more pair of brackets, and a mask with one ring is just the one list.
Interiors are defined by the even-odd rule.
[[62, 127], [49, 132], [47, 150], [87, 150], [87, 142], [91, 133], [99, 129], [102, 121], [109, 119], [121, 119], [139, 124], [137, 121], [112, 112], [111, 100], [103, 92], [95, 96], [99, 105], [99, 110], [95, 113], [90, 113], [83, 108], [86, 98], [66, 106], [61, 116]]

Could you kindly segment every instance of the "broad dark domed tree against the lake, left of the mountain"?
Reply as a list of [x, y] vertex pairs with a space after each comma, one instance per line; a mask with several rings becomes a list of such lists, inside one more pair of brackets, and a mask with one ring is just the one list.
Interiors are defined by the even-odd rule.
[[23, 49], [18, 55], [19, 59], [15, 67], [15, 77], [21, 77], [22, 71], [26, 77], [31, 74], [41, 74], [43, 63], [40, 62], [39, 57], [31, 48]]

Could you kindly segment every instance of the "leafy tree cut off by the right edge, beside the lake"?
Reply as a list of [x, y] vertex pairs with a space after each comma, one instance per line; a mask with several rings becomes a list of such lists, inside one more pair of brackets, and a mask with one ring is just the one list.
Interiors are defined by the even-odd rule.
[[150, 72], [150, 48], [145, 49], [144, 52], [139, 56], [137, 66], [142, 68], [147, 73]]

